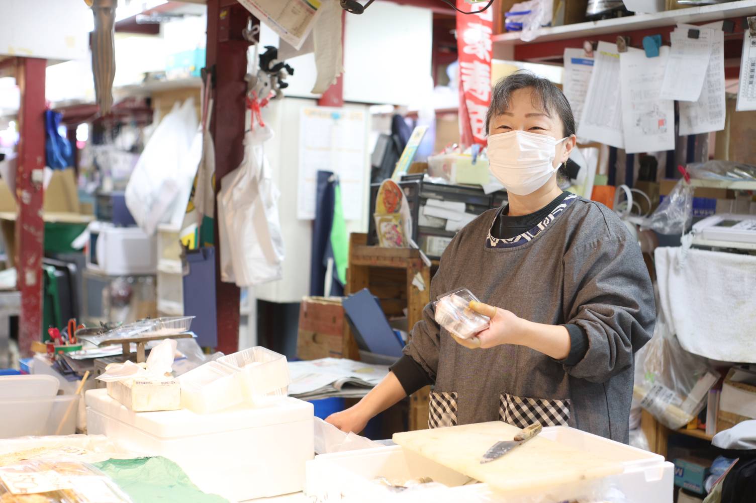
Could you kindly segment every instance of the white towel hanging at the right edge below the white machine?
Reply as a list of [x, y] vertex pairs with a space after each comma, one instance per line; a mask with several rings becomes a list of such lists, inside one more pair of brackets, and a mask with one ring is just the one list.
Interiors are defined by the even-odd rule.
[[655, 250], [660, 309], [689, 352], [756, 363], [756, 256], [680, 247]]

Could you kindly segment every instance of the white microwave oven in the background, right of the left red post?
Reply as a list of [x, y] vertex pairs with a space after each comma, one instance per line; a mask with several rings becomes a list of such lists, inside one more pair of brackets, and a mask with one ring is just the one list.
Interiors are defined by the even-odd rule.
[[157, 270], [155, 237], [138, 227], [92, 222], [86, 256], [89, 269], [111, 276], [150, 275]]

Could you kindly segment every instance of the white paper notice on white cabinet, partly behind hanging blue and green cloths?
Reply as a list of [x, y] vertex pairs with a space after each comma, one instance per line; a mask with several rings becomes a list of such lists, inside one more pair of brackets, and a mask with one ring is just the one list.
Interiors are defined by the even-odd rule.
[[364, 210], [364, 110], [305, 107], [299, 115], [299, 181], [297, 218], [315, 217], [318, 171], [339, 175], [346, 220], [358, 220]]

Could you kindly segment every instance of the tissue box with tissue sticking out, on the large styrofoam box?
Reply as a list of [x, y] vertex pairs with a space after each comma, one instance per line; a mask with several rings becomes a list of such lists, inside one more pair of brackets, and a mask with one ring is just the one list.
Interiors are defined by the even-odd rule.
[[135, 412], [181, 408], [181, 384], [174, 377], [111, 381], [107, 383], [107, 394]]

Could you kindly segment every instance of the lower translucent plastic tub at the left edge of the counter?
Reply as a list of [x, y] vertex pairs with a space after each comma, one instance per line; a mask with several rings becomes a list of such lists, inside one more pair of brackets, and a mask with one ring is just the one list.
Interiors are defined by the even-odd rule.
[[79, 395], [0, 399], [0, 418], [3, 418], [0, 421], [0, 438], [4, 439], [29, 435], [73, 435], [79, 418]]

